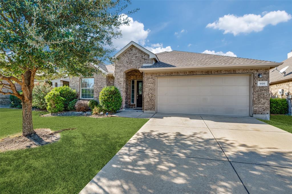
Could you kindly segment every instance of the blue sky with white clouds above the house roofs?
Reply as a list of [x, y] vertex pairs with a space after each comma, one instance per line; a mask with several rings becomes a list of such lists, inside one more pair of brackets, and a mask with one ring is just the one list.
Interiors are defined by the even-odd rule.
[[135, 41], [153, 53], [180, 50], [281, 62], [292, 50], [292, 1], [132, 1], [117, 51]]

